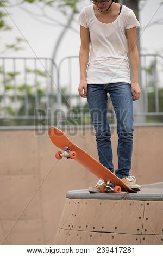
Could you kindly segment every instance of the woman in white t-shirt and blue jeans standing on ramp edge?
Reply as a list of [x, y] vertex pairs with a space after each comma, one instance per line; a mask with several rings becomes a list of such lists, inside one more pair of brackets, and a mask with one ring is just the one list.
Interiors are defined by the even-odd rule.
[[[118, 169], [115, 175], [129, 187], [140, 191], [141, 186], [136, 184], [135, 177], [129, 175], [133, 151], [133, 101], [138, 100], [141, 93], [136, 46], [136, 28], [140, 23], [133, 10], [114, 3], [114, 0], [91, 2], [93, 4], [83, 8], [79, 15], [79, 95], [87, 97], [96, 131], [99, 161], [113, 173], [111, 132], [107, 118], [107, 93], [110, 94], [118, 134]], [[99, 180], [96, 186], [89, 188], [89, 192], [99, 192], [103, 184], [104, 181]]]

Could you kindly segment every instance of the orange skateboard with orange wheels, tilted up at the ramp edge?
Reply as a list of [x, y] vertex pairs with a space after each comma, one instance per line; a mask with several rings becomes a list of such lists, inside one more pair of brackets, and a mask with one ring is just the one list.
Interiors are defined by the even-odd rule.
[[102, 193], [121, 193], [121, 191], [137, 193], [137, 191], [128, 187], [114, 173], [103, 166], [103, 164], [98, 162], [91, 155], [86, 153], [82, 148], [79, 148], [72, 141], [70, 141], [65, 133], [59, 130], [57, 127], [51, 127], [48, 131], [48, 134], [52, 143], [62, 150], [58, 151], [55, 154], [55, 157], [57, 159], [62, 159], [62, 157], [66, 157], [67, 159], [74, 159], [78, 163], [82, 164], [86, 169], [90, 170], [90, 172], [95, 174], [98, 178], [103, 179], [106, 185], [101, 187]]

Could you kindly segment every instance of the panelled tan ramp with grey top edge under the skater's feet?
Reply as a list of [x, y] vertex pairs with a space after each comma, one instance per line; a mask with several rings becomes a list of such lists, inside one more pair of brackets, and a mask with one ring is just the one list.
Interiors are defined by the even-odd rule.
[[73, 190], [54, 245], [163, 245], [163, 182], [136, 194]]

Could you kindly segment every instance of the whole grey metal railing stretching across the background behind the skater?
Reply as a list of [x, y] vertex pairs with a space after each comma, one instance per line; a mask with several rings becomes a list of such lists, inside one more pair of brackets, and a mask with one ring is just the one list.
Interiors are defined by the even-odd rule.
[[[134, 115], [157, 118], [154, 123], [163, 123], [163, 57], [141, 54], [140, 58], [145, 107]], [[33, 127], [41, 122], [45, 126], [66, 126], [70, 118], [72, 123], [78, 120], [74, 125], [92, 126], [87, 101], [78, 95], [79, 56], [65, 57], [58, 66], [50, 58], [0, 57], [0, 75], [1, 128]], [[108, 116], [115, 117], [114, 111]], [[81, 118], [86, 121], [81, 123]]]

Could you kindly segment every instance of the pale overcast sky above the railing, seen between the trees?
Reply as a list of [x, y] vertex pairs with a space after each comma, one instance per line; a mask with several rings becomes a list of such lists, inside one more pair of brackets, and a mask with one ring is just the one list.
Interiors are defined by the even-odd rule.
[[[16, 3], [13, 0], [12, 3]], [[161, 0], [141, 0], [140, 1], [140, 12], [139, 12], [139, 22], [141, 25], [140, 31], [140, 44], [141, 53], [159, 53], [163, 55], [163, 36], [162, 28], [163, 25], [151, 25], [151, 22], [159, 20], [162, 18], [163, 5], [159, 8], [159, 3]], [[79, 11], [86, 5], [91, 4], [90, 1], [84, 0], [80, 6]], [[30, 14], [26, 13], [22, 8], [29, 11]], [[34, 4], [23, 4], [20, 7], [10, 7], [4, 9], [8, 13], [5, 18], [8, 25], [12, 27], [12, 31], [2, 32], [0, 35], [0, 52], [4, 48], [4, 44], [12, 44], [16, 37], [25, 38], [27, 42], [21, 44], [25, 48], [23, 51], [12, 52], [8, 51], [6, 53], [0, 53], [3, 57], [52, 57], [54, 50], [54, 45], [57, 42], [58, 36], [62, 31], [62, 27], [59, 25], [54, 25], [53, 21], [42, 18], [42, 22], [35, 20], [35, 17], [31, 16], [31, 13], [41, 14], [40, 9]], [[58, 10], [46, 9], [47, 15], [51, 19], [56, 19], [58, 22], [66, 24], [66, 18]], [[78, 16], [76, 15], [73, 22], [73, 28], [76, 32], [68, 29], [66, 34], [61, 41], [59, 50], [57, 52], [56, 63], [58, 64], [60, 60], [66, 56], [78, 56], [80, 48], [80, 26], [78, 24]], [[51, 25], [47, 25], [46, 22], [50, 22]], [[163, 22], [162, 22], [163, 23]], [[147, 26], [147, 27], [146, 27]], [[76, 65], [74, 66], [74, 72], [76, 70]], [[75, 83], [78, 83], [76, 80]], [[77, 84], [73, 85], [78, 87]]]

